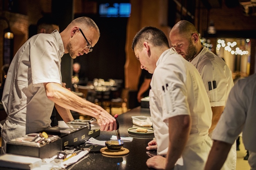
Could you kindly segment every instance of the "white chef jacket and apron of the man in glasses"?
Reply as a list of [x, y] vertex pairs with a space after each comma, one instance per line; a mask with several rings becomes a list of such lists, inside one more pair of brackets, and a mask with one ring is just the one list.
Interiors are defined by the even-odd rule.
[[8, 115], [2, 128], [3, 153], [11, 139], [50, 126], [54, 102], [47, 98], [43, 83], [61, 84], [63, 54], [64, 45], [55, 30], [31, 37], [14, 56], [2, 97]]

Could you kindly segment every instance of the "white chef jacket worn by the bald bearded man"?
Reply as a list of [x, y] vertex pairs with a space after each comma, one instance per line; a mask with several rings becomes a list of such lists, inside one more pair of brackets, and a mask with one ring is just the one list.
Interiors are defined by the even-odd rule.
[[[211, 107], [225, 106], [228, 94], [234, 86], [232, 72], [227, 64], [207, 47], [204, 47], [191, 63], [199, 71], [203, 79]], [[216, 81], [216, 88], [213, 87], [213, 81]], [[208, 82], [210, 82], [212, 89], [210, 91]]]

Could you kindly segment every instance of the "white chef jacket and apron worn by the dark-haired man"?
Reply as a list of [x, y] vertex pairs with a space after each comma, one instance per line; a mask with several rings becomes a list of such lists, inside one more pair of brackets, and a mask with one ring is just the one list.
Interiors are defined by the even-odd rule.
[[157, 154], [165, 155], [168, 151], [168, 118], [190, 115], [191, 132], [182, 153], [184, 166], [178, 169], [203, 169], [211, 147], [208, 130], [212, 111], [198, 71], [171, 48], [159, 57], [150, 86]]

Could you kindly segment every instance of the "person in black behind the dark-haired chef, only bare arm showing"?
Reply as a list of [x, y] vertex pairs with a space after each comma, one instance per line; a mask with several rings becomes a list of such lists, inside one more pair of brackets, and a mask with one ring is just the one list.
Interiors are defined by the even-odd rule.
[[137, 106], [140, 105], [141, 98], [149, 96], [150, 82], [153, 74], [148, 73], [147, 70], [142, 69], [139, 77], [138, 93], [137, 93]]

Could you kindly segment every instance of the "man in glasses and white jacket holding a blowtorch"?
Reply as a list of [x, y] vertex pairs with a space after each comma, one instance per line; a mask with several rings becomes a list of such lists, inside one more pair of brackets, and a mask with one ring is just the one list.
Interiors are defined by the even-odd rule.
[[1, 154], [6, 153], [10, 140], [48, 128], [54, 105], [65, 122], [73, 120], [73, 110], [95, 117], [100, 130], [116, 129], [116, 120], [102, 107], [62, 87], [63, 54], [69, 53], [72, 58], [88, 54], [99, 37], [95, 22], [80, 17], [61, 33], [37, 34], [22, 45], [11, 62], [3, 89], [2, 103], [8, 116], [1, 131]]

